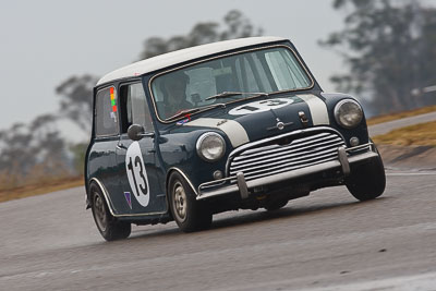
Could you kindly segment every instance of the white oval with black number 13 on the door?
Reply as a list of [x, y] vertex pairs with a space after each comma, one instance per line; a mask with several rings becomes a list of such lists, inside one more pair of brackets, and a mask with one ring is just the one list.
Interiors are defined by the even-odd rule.
[[133, 196], [144, 207], [149, 203], [149, 186], [138, 142], [133, 142], [125, 154], [125, 170]]

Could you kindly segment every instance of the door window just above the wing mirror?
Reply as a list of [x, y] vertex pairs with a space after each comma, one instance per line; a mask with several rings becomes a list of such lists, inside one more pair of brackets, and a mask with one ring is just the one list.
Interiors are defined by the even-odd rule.
[[141, 83], [120, 87], [120, 106], [123, 133], [126, 133], [129, 126], [133, 123], [143, 125], [146, 132], [154, 131], [152, 116]]

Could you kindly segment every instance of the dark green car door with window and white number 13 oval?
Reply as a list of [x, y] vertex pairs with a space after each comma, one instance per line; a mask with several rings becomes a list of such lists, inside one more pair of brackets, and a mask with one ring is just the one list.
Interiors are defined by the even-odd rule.
[[[166, 213], [167, 202], [161, 187], [165, 179], [157, 162], [154, 125], [142, 83], [119, 86], [121, 133], [117, 145], [117, 165], [122, 187], [125, 213], [147, 215]], [[147, 136], [132, 141], [128, 129], [132, 124], [144, 126]]]

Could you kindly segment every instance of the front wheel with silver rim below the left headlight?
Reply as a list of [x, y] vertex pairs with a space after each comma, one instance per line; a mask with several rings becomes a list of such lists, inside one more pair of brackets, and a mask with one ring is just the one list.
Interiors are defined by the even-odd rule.
[[192, 232], [210, 227], [210, 210], [206, 204], [196, 201], [194, 192], [180, 173], [170, 175], [168, 194], [172, 217], [182, 231]]

